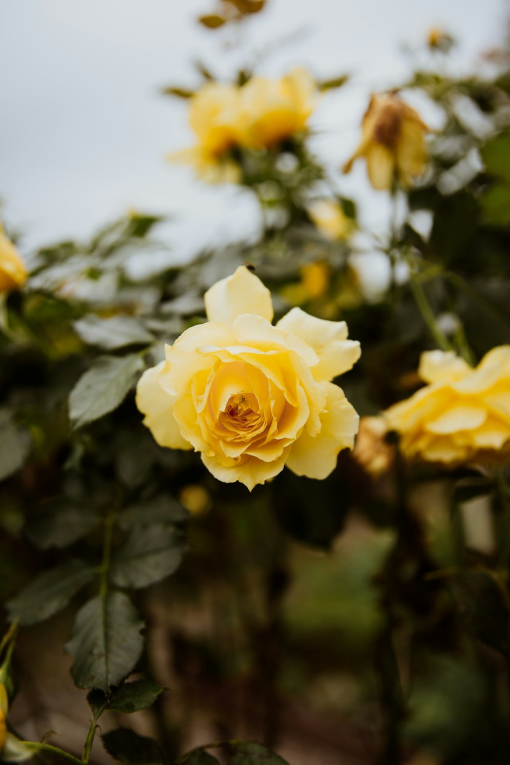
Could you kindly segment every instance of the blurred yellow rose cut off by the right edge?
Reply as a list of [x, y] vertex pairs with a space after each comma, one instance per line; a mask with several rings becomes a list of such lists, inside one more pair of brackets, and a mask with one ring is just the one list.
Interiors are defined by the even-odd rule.
[[493, 348], [475, 369], [455, 353], [422, 353], [427, 386], [385, 413], [406, 457], [460, 464], [502, 457], [510, 448], [510, 346]]

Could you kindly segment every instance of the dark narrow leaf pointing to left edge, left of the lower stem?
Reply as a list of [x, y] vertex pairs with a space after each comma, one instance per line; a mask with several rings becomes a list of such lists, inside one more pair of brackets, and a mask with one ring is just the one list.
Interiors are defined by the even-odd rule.
[[23, 625], [48, 619], [66, 607], [71, 598], [93, 579], [94, 573], [93, 568], [78, 560], [45, 571], [8, 601], [9, 616]]

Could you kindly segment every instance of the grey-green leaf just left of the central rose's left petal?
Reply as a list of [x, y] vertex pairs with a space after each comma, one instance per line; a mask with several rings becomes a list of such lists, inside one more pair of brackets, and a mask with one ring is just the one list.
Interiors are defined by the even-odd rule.
[[144, 363], [140, 356], [99, 356], [76, 382], [69, 399], [73, 428], [107, 415], [127, 396]]

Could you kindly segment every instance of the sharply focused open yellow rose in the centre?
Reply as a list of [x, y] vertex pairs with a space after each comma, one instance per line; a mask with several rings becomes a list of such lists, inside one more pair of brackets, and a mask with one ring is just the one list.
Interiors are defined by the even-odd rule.
[[219, 480], [252, 490], [290, 467], [325, 478], [358, 415], [333, 382], [356, 363], [345, 322], [293, 308], [273, 327], [271, 293], [240, 266], [205, 295], [205, 324], [166, 346], [136, 402], [158, 444], [200, 451]]

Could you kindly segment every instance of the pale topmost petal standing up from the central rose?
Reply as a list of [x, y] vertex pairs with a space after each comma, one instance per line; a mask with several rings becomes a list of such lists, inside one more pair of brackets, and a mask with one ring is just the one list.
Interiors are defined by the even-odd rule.
[[203, 296], [210, 321], [231, 326], [242, 314], [273, 318], [271, 292], [244, 265], [232, 276], [216, 282]]

